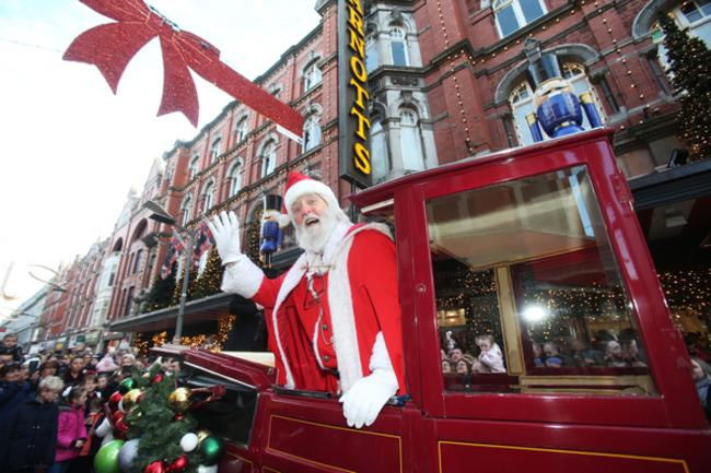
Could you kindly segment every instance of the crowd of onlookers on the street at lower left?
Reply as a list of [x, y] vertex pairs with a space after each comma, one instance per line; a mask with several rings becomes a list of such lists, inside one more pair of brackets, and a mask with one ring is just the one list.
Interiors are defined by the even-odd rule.
[[114, 440], [104, 403], [132, 376], [179, 370], [179, 360], [137, 357], [124, 341], [105, 354], [77, 346], [71, 356], [30, 353], [18, 336], [0, 344], [0, 471], [91, 473], [98, 449]]

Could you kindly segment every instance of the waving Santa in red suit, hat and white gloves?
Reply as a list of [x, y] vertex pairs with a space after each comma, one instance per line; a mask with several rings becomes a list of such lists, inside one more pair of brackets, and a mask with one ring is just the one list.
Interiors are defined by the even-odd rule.
[[407, 392], [389, 230], [353, 225], [328, 186], [293, 172], [279, 220], [294, 224], [305, 251], [275, 280], [242, 255], [233, 212], [209, 223], [226, 267], [222, 288], [265, 307], [280, 383], [342, 394], [348, 425], [371, 425]]

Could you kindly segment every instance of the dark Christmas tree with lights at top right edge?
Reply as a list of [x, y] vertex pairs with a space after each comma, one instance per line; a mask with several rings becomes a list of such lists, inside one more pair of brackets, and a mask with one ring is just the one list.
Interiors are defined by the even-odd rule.
[[660, 12], [667, 48], [672, 84], [681, 104], [679, 119], [681, 135], [689, 149], [689, 159], [711, 156], [711, 52], [699, 38], [689, 36], [688, 28], [679, 29], [674, 17]]

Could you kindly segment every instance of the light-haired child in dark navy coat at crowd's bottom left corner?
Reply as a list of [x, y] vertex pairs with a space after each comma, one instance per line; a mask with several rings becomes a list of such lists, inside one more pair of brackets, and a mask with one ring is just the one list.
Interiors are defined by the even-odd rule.
[[0, 426], [0, 471], [34, 471], [55, 461], [59, 411], [55, 400], [65, 389], [49, 376]]

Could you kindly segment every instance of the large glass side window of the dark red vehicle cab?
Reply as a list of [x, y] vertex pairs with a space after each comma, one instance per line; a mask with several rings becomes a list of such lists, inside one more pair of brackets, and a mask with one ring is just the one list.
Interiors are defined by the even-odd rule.
[[586, 167], [432, 199], [427, 215], [441, 344], [458, 348], [447, 391], [656, 394]]

